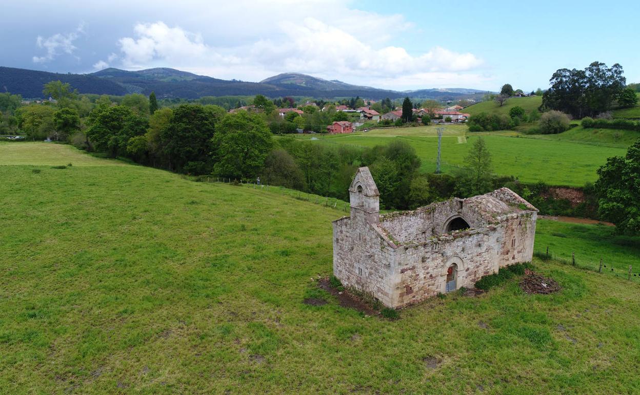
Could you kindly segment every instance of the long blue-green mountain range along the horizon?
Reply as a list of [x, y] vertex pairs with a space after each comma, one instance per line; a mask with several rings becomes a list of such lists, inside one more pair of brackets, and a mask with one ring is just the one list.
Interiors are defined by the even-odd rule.
[[267, 97], [303, 96], [319, 99], [356, 97], [379, 100], [399, 99], [407, 95], [440, 101], [470, 99], [486, 93], [467, 88], [420, 89], [406, 92], [372, 88], [326, 80], [299, 73], [283, 73], [263, 79], [259, 83], [198, 76], [190, 72], [156, 68], [127, 71], [104, 69], [91, 74], [60, 74], [37, 70], [0, 67], [0, 90], [22, 97], [42, 97], [42, 86], [49, 81], [69, 83], [80, 93], [125, 95], [127, 93], [156, 92], [159, 98], [198, 99], [204, 96], [257, 95]]

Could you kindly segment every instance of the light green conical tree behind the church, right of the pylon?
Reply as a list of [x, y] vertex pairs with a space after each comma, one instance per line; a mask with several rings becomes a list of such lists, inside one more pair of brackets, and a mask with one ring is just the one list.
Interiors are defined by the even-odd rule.
[[492, 188], [491, 153], [484, 138], [474, 141], [465, 157], [464, 173], [460, 177], [458, 191], [465, 196], [480, 195]]

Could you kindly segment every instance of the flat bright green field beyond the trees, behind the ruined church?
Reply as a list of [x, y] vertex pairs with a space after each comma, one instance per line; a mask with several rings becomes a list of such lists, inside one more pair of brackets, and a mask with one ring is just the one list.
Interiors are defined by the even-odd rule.
[[[447, 125], [442, 139], [442, 170], [452, 172], [464, 164], [471, 143], [479, 135], [492, 153], [493, 169], [499, 175], [513, 175], [524, 182], [544, 181], [550, 185], [584, 186], [597, 179], [596, 170], [607, 157], [624, 156], [626, 148], [599, 147], [563, 140], [516, 138], [514, 132], [467, 133], [466, 125]], [[559, 135], [558, 135], [559, 136]], [[537, 136], [536, 136], [537, 137]], [[303, 136], [301, 138], [309, 138]], [[438, 139], [435, 126], [376, 129], [369, 133], [321, 135], [314, 143], [373, 147], [397, 138], [409, 142], [422, 160], [423, 172], [436, 168]]]

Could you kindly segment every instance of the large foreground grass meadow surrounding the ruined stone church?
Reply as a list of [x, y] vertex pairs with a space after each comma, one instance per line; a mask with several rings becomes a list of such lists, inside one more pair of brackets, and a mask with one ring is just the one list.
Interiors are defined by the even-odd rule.
[[640, 391], [636, 282], [534, 261], [561, 293], [512, 280], [367, 317], [310, 280], [342, 211], [63, 145], [0, 154], [3, 393]]

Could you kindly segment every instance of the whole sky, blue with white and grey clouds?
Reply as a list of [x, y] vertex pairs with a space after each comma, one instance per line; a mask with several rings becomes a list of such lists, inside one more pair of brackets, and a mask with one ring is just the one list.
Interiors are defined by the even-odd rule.
[[529, 92], [557, 69], [601, 61], [640, 82], [636, 1], [30, 0], [0, 13], [0, 66], [32, 70]]

